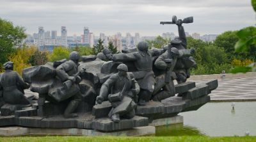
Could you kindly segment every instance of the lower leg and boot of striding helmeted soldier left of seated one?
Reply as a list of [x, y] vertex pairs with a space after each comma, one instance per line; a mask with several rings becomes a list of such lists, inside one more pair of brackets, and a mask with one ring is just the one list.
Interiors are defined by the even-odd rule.
[[78, 114], [74, 113], [74, 111], [76, 110], [77, 106], [79, 105], [79, 103], [82, 101], [82, 96], [81, 93], [77, 93], [77, 95], [75, 95], [74, 100], [71, 100], [68, 103], [67, 108], [65, 109], [64, 112], [64, 117], [65, 118], [74, 118], [77, 117]]

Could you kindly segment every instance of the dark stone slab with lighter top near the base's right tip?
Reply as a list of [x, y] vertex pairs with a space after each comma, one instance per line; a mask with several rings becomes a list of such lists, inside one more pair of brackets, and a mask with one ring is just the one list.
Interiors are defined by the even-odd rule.
[[188, 92], [183, 93], [182, 99], [193, 100], [208, 95], [209, 93], [211, 93], [211, 91], [209, 90], [209, 86], [207, 84], [199, 84], [198, 86], [192, 88]]

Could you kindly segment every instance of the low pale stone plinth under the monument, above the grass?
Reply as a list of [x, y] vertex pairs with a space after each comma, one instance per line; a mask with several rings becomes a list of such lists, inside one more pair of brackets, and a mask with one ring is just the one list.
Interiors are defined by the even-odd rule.
[[23, 136], [23, 135], [68, 135], [68, 136], [145, 136], [156, 134], [153, 126], [134, 127], [129, 130], [115, 132], [101, 132], [92, 129], [52, 129], [52, 128], [29, 128], [29, 127], [1, 127], [0, 136]]

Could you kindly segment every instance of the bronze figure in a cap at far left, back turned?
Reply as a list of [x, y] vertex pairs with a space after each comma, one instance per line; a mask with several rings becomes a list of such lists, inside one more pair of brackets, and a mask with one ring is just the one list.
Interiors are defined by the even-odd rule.
[[8, 61], [3, 65], [5, 72], [0, 74], [0, 96], [8, 104], [29, 106], [31, 102], [24, 95], [24, 89], [29, 88], [20, 75], [13, 71], [13, 62]]

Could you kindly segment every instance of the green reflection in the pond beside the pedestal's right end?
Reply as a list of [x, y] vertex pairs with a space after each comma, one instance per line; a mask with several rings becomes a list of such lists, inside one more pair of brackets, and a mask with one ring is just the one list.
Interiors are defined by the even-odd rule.
[[203, 132], [183, 123], [156, 127], [156, 136], [205, 136]]

